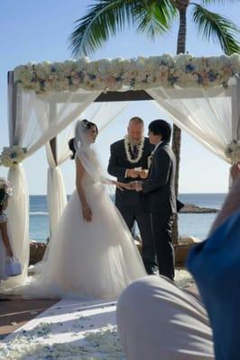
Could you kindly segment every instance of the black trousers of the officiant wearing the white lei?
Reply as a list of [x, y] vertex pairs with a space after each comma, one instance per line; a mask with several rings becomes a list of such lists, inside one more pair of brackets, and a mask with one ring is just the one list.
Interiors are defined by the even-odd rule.
[[156, 261], [152, 239], [150, 213], [144, 211], [142, 206], [125, 206], [119, 203], [115, 203], [115, 206], [121, 212], [130, 231], [132, 231], [134, 221], [136, 221], [143, 242], [143, 264], [146, 272], [151, 273], [154, 266], [156, 266]]

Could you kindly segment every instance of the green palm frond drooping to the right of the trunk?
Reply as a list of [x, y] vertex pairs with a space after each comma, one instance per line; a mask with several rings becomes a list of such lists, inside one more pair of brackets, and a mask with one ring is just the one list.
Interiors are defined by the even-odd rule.
[[226, 55], [239, 53], [240, 44], [237, 38], [239, 29], [235, 23], [220, 14], [208, 11], [199, 4], [194, 5], [193, 21], [198, 27], [198, 33], [208, 41], [217, 40]]

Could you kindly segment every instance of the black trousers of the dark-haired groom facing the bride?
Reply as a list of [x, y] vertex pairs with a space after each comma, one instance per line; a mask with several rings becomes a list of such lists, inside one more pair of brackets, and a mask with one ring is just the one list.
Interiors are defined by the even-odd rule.
[[151, 213], [152, 238], [156, 251], [159, 274], [174, 278], [174, 251], [172, 225], [174, 214]]

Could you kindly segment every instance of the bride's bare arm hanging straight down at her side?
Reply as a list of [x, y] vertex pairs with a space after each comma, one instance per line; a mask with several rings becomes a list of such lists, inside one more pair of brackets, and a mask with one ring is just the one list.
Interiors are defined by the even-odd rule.
[[76, 187], [78, 191], [78, 196], [82, 205], [82, 216], [84, 220], [91, 221], [92, 220], [92, 211], [89, 208], [86, 193], [84, 191], [82, 181], [84, 178], [85, 169], [82, 166], [81, 161], [79, 158], [76, 159]]

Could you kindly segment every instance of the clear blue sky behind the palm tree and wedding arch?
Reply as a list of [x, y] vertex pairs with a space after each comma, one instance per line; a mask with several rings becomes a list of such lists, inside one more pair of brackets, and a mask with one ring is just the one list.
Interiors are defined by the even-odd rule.
[[[65, 60], [71, 57], [68, 49], [68, 37], [73, 30], [74, 21], [86, 14], [91, 1], [83, 0], [7, 0], [0, 2], [0, 148], [8, 145], [7, 134], [7, 86], [8, 70], [29, 61]], [[219, 2], [220, 3], [220, 2]], [[240, 4], [227, 2], [213, 7], [219, 14], [225, 14], [239, 26]], [[189, 15], [191, 10], [189, 9]], [[188, 16], [189, 17], [189, 16]], [[137, 56], [175, 54], [178, 23], [170, 33], [152, 42], [134, 29], [126, 29], [109, 40], [106, 45], [90, 56], [97, 58], [136, 58]], [[222, 50], [214, 43], [207, 43], [198, 37], [192, 23], [187, 31], [187, 48], [195, 56], [220, 55]], [[104, 134], [97, 139], [97, 148], [101, 152], [106, 166], [109, 144], [125, 134], [128, 119], [140, 115], [146, 124], [162, 115], [150, 103], [131, 103], [130, 107], [115, 120]], [[29, 191], [46, 193], [47, 162], [44, 149], [39, 150], [24, 162]], [[61, 166], [66, 182], [67, 193], [74, 187], [74, 164], [67, 161]], [[0, 176], [7, 170], [0, 167]], [[36, 174], [38, 174], [36, 176]], [[228, 183], [228, 165], [217, 156], [203, 148], [186, 133], [182, 135], [180, 193], [225, 193]]]

